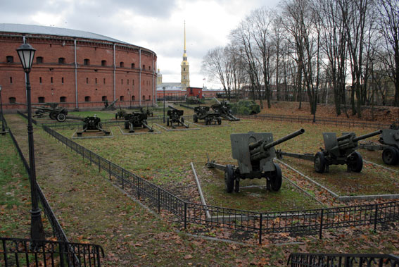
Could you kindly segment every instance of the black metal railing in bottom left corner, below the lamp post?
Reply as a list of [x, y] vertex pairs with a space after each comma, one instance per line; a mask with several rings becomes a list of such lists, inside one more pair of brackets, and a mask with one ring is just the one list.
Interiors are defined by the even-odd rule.
[[[0, 266], [101, 266], [97, 244], [0, 237]], [[76, 259], [76, 260], [75, 260]]]

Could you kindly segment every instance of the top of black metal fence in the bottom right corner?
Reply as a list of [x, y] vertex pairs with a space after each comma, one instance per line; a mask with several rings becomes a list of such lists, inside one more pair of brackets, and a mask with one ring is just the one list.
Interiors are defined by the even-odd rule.
[[329, 266], [399, 266], [399, 257], [391, 254], [312, 254], [292, 253], [287, 265], [292, 267]]

